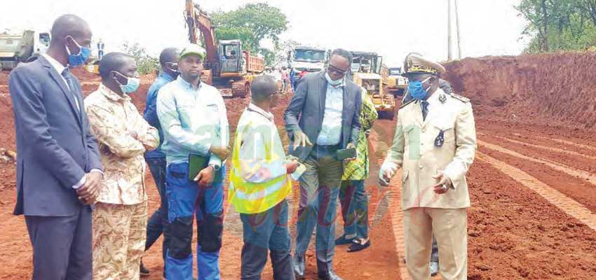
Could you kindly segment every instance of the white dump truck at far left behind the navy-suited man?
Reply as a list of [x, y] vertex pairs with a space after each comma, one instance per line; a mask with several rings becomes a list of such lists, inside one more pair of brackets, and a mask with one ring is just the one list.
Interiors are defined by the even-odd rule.
[[49, 46], [49, 32], [4, 31], [0, 34], [0, 69], [10, 70], [20, 62], [32, 62], [45, 53]]

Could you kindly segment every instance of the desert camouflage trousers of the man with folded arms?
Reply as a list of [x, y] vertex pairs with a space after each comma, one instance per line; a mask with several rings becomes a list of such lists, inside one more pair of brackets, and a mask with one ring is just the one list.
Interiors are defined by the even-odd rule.
[[147, 202], [97, 202], [93, 211], [93, 279], [139, 279], [147, 238]]

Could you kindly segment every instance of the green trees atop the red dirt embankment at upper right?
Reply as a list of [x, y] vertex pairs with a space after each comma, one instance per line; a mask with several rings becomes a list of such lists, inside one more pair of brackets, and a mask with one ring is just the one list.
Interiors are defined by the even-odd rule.
[[515, 8], [528, 21], [522, 33], [530, 38], [526, 52], [596, 45], [596, 0], [522, 0]]

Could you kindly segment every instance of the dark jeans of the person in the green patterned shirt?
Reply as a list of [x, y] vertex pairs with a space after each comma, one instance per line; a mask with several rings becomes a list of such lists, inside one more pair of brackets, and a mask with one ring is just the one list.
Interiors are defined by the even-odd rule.
[[341, 182], [339, 188], [341, 216], [344, 218], [344, 235], [368, 238], [368, 196], [364, 180]]

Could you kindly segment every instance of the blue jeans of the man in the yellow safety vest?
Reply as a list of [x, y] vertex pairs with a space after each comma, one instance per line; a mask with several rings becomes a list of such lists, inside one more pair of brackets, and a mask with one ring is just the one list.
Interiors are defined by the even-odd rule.
[[261, 280], [267, 253], [271, 251], [273, 279], [294, 280], [287, 230], [287, 202], [259, 214], [240, 214], [243, 225], [241, 279]]

